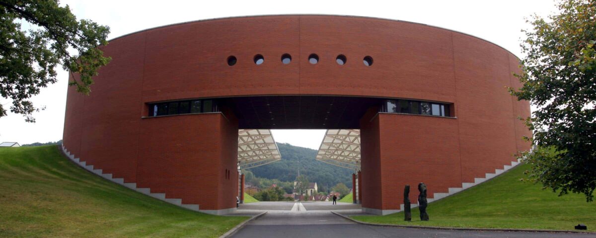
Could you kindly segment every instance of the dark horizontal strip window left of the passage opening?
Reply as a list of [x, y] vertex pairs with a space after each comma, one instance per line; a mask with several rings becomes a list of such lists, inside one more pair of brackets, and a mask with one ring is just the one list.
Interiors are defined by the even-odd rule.
[[212, 99], [149, 104], [149, 117], [206, 112], [219, 112], [217, 103]]

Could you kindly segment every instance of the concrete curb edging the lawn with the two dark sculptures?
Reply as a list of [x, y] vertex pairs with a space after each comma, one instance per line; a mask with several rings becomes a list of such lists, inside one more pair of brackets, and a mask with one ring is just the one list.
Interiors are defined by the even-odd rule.
[[574, 231], [574, 230], [533, 230], [533, 229], [506, 229], [506, 228], [467, 228], [467, 227], [431, 227], [431, 226], [408, 226], [408, 225], [396, 225], [396, 224], [378, 224], [378, 223], [365, 223], [364, 221], [354, 220], [346, 215], [339, 214], [337, 212], [331, 212], [339, 215], [347, 220], [353, 221], [358, 224], [367, 226], [377, 227], [403, 227], [403, 228], [419, 228], [419, 229], [434, 229], [434, 230], [469, 230], [469, 231], [523, 231], [523, 232], [548, 232], [548, 233], [585, 233], [592, 234], [594, 231]]

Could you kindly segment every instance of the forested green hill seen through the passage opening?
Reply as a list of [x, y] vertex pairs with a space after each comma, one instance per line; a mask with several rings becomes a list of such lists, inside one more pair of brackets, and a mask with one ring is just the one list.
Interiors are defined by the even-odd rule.
[[[316, 150], [293, 146], [288, 143], [277, 143], [280, 149], [281, 161], [250, 168], [254, 176], [279, 179], [281, 181], [294, 181], [300, 161], [300, 175], [308, 176], [308, 180], [316, 182], [320, 187], [333, 187], [337, 183], [344, 183], [352, 187], [352, 170], [341, 168], [315, 159]], [[319, 189], [321, 190], [321, 189]]]

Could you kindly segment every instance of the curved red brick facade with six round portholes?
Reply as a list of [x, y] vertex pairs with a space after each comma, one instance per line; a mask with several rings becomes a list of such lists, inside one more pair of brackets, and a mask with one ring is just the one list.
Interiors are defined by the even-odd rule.
[[[333, 95], [445, 102], [453, 118], [362, 115], [362, 206], [395, 211], [404, 184], [446, 193], [529, 149], [528, 102], [510, 52], [485, 40], [377, 18], [277, 15], [175, 24], [110, 41], [91, 96], [70, 87], [64, 147], [86, 164], [206, 212], [235, 207], [238, 119], [221, 113], [146, 118], [148, 103], [194, 98]], [[310, 54], [319, 56], [309, 64]], [[265, 62], [256, 65], [254, 55]], [[290, 64], [281, 55], [290, 54]], [[347, 57], [339, 65], [337, 55]], [[237, 64], [226, 59], [234, 55]], [[362, 58], [370, 55], [367, 67]], [[72, 80], [72, 79], [71, 79]], [[417, 192], [411, 193], [416, 201]], [[217, 213], [217, 212], [215, 212]]]

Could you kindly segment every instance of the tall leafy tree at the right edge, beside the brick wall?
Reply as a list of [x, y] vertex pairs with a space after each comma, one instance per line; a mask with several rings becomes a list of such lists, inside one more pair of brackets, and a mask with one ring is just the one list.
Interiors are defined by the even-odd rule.
[[538, 107], [523, 118], [537, 145], [521, 157], [531, 164], [530, 180], [545, 189], [583, 193], [593, 200], [596, 187], [596, 4], [564, 0], [560, 14], [528, 20], [532, 30], [521, 46], [526, 57], [523, 84], [509, 89], [519, 100]]

